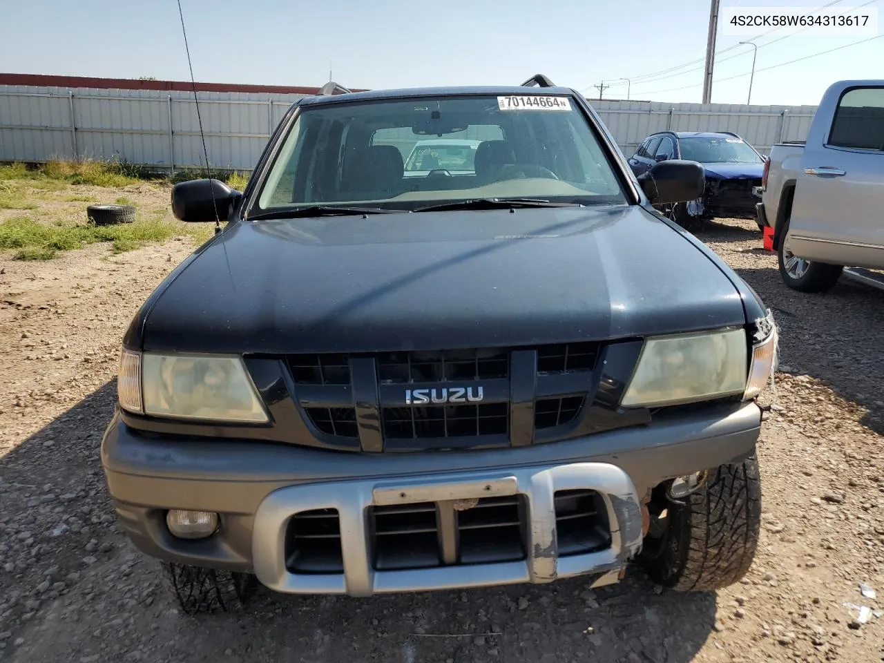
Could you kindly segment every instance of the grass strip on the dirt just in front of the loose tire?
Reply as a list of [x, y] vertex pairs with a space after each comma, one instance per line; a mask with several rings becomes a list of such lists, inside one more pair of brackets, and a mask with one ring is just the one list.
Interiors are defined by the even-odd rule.
[[187, 228], [159, 216], [119, 225], [42, 225], [30, 217], [14, 217], [0, 224], [0, 249], [19, 249], [17, 260], [49, 260], [60, 251], [97, 242], [109, 242], [114, 253], [123, 253], [148, 242], [181, 235], [199, 239], [205, 233], [205, 229]]

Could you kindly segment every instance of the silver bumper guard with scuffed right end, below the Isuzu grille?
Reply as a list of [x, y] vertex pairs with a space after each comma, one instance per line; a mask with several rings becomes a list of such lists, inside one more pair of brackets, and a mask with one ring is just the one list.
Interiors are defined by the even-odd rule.
[[[610, 544], [603, 550], [561, 556], [555, 496], [594, 491], [606, 512]], [[435, 568], [377, 570], [372, 561], [370, 508], [448, 503], [469, 510], [480, 499], [521, 497], [524, 559]], [[305, 512], [339, 519], [343, 573], [293, 573], [286, 560], [290, 522]], [[638, 552], [643, 515], [636, 487], [622, 469], [604, 462], [573, 462], [504, 471], [476, 471], [400, 479], [296, 485], [271, 492], [255, 514], [255, 575], [273, 591], [305, 594], [372, 594], [449, 590], [512, 583], [549, 583], [598, 574], [596, 585], [615, 583]], [[443, 531], [440, 537], [446, 537]], [[444, 543], [444, 542], [443, 542]]]

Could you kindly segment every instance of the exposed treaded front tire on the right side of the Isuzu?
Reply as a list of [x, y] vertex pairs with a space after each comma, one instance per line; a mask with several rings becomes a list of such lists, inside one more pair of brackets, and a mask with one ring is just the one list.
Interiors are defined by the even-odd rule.
[[681, 503], [667, 499], [667, 489], [655, 490], [649, 505], [652, 526], [638, 559], [648, 575], [676, 591], [714, 591], [739, 581], [761, 529], [756, 457], [711, 470]]

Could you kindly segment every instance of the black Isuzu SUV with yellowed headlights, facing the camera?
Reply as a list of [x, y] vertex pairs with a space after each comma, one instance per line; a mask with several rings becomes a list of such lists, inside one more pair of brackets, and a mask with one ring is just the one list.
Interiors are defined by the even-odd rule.
[[[480, 141], [405, 177], [425, 137]], [[471, 169], [471, 170], [470, 170]], [[735, 583], [758, 540], [758, 296], [653, 204], [583, 96], [522, 86], [295, 103], [217, 234], [123, 339], [102, 462], [187, 612], [290, 593]], [[223, 222], [223, 229], [222, 229]]]

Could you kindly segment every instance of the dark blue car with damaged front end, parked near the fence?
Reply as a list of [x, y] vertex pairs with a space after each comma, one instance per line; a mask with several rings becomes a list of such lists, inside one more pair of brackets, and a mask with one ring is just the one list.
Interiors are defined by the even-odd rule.
[[757, 198], [752, 187], [761, 186], [766, 157], [736, 133], [662, 131], [648, 136], [633, 156], [629, 167], [637, 175], [667, 159], [685, 159], [703, 164], [706, 186], [696, 201], [678, 202], [659, 208], [675, 223], [690, 231], [701, 229], [712, 218], [755, 219]]

